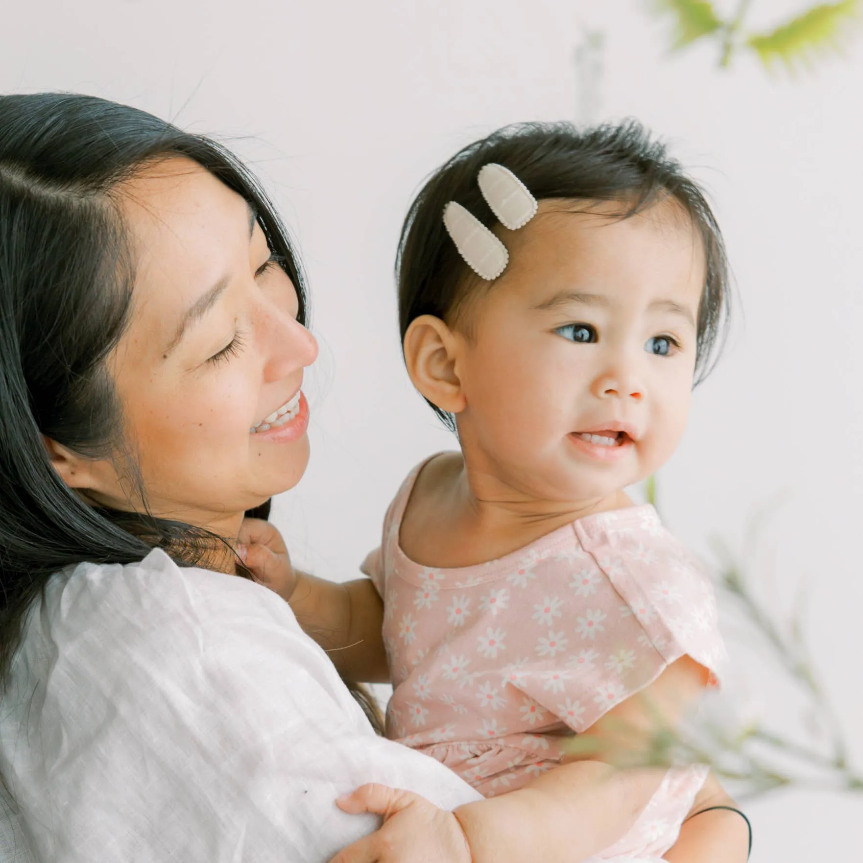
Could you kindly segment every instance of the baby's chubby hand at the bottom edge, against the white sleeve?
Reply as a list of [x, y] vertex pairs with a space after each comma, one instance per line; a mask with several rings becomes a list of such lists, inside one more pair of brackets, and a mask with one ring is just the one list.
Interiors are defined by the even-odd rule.
[[419, 794], [369, 784], [336, 803], [351, 815], [383, 816], [383, 825], [344, 848], [330, 863], [471, 863], [457, 817]]

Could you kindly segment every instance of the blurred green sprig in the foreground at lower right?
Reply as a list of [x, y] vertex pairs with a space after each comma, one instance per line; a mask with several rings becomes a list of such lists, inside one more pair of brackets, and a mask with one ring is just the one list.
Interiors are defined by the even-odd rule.
[[[657, 483], [651, 477], [645, 485], [647, 501], [656, 505]], [[715, 543], [715, 564], [709, 567], [718, 597], [728, 611], [727, 623], [735, 630], [735, 640], [753, 641], [751, 656], [757, 665], [770, 668], [772, 684], [793, 691], [800, 705], [797, 734], [779, 732], [775, 721], [788, 726], [787, 706], [781, 716], [697, 715], [683, 728], [664, 727], [658, 719], [645, 743], [634, 728], [617, 729], [614, 757], [609, 757], [588, 736], [576, 736], [567, 744], [571, 753], [581, 757], [610, 760], [621, 768], [706, 764], [735, 796], [756, 797], [767, 791], [795, 787], [863, 792], [863, 772], [848, 755], [845, 732], [839, 715], [830, 703], [821, 675], [812, 662], [805, 640], [803, 595], [798, 595], [792, 613], [784, 619], [776, 602], [768, 607], [759, 597], [759, 573], [747, 558], [754, 559], [760, 520], [746, 543], [743, 560], [721, 542]], [[750, 670], [756, 667], [751, 665]], [[739, 707], [740, 705], [738, 705]], [[649, 708], [650, 705], [647, 705]], [[769, 714], [769, 711], [768, 711]], [[633, 741], [633, 747], [620, 746], [620, 740]]]

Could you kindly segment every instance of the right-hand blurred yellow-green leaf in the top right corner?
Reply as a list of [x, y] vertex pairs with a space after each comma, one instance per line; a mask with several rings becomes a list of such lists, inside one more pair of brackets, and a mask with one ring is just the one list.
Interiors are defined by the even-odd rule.
[[794, 72], [798, 66], [810, 67], [817, 57], [838, 52], [847, 25], [859, 15], [860, 0], [822, 3], [770, 33], [749, 36], [746, 44], [768, 69], [778, 61]]

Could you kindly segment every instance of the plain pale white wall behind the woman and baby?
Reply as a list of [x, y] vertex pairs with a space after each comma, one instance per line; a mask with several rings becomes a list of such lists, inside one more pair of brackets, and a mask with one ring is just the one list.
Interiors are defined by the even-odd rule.
[[[768, 25], [800, 8], [753, 5]], [[863, 38], [790, 81], [742, 58], [720, 72], [708, 48], [668, 56], [639, 0], [6, 0], [0, 92], [129, 102], [253, 161], [299, 238], [324, 348], [306, 387], [312, 465], [275, 518], [297, 560], [346, 578], [406, 470], [452, 445], [400, 365], [407, 202], [463, 143], [574, 115], [583, 23], [606, 35], [602, 116], [640, 117], [709, 186], [739, 284], [733, 343], [660, 475], [665, 517], [705, 551], [778, 506], [763, 595], [780, 610], [809, 580], [816, 663], [863, 765]], [[763, 673], [749, 691], [793, 715]], [[859, 859], [863, 797], [792, 791], [750, 809], [756, 863]]]

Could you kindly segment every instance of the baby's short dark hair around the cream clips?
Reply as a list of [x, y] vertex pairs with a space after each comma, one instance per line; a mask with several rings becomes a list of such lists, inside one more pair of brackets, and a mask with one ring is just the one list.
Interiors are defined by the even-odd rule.
[[[448, 322], [478, 280], [444, 228], [444, 206], [457, 201], [482, 224], [497, 224], [476, 182], [483, 165], [509, 168], [534, 198], [620, 203], [620, 218], [666, 198], [682, 207], [702, 238], [707, 278], [698, 312], [696, 383], [713, 368], [728, 330], [730, 279], [725, 244], [702, 189], [641, 123], [577, 129], [571, 123], [517, 123], [469, 144], [431, 174], [401, 230], [396, 259], [402, 340], [420, 315]], [[436, 409], [437, 410], [437, 409]], [[452, 418], [437, 411], [446, 425]]]

